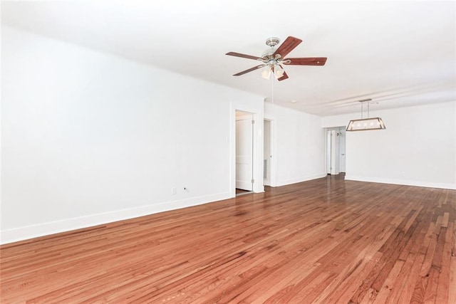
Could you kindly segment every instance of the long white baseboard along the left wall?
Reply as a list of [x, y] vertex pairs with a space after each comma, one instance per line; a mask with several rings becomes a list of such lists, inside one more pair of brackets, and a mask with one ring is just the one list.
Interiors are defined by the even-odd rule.
[[88, 216], [80, 216], [70, 219], [64, 219], [61, 221], [51, 221], [43, 224], [23, 226], [15, 229], [7, 229], [1, 231], [0, 244], [24, 241], [26, 239], [33, 239], [38, 236], [47, 236], [50, 234], [57, 234], [60, 232], [71, 231], [75, 229], [82, 229], [101, 224], [108, 224], [113, 221], [133, 219], [135, 217], [145, 216], [148, 214], [156, 214], [163, 211], [170, 211], [189, 206], [206, 204], [212, 201], [229, 199], [229, 197], [229, 192], [212, 194], [208, 196], [198, 196], [193, 197], [191, 199], [167, 201], [160, 204], [152, 204], [131, 209], [111, 211], [103, 214], [91, 214]]

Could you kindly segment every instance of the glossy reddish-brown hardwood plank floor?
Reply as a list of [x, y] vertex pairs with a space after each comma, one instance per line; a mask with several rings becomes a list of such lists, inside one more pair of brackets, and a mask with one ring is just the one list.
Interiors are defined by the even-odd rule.
[[326, 177], [1, 246], [1, 303], [455, 303], [456, 191]]

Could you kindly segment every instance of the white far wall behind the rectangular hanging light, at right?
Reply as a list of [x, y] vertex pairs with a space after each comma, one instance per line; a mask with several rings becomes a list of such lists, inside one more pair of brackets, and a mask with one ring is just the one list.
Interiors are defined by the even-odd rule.
[[[346, 179], [456, 189], [456, 102], [371, 111], [386, 130], [346, 132]], [[323, 117], [347, 125], [359, 113]]]

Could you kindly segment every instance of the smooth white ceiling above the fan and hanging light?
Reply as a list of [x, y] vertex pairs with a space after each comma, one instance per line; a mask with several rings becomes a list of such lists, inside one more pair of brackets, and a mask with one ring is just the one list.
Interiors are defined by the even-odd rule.
[[[271, 98], [266, 38], [303, 43], [274, 103], [316, 115], [456, 100], [456, 1], [2, 1], [1, 23]], [[296, 100], [296, 103], [291, 103]], [[374, 106], [373, 106], [374, 107]], [[371, 108], [371, 110], [374, 110]]]

